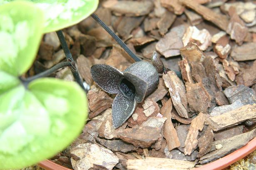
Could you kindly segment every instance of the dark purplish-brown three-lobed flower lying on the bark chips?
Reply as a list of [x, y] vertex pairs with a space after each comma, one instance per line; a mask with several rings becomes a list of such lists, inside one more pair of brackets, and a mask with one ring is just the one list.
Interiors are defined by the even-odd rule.
[[121, 126], [134, 112], [137, 102], [142, 102], [159, 83], [157, 69], [148, 62], [133, 63], [124, 72], [106, 64], [91, 67], [91, 75], [104, 91], [116, 94], [112, 104], [114, 128]]

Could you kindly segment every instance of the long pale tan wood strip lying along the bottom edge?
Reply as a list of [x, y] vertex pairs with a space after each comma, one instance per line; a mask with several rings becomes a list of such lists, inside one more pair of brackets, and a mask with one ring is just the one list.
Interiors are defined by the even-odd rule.
[[189, 170], [190, 168], [194, 168], [196, 162], [164, 158], [146, 158], [137, 160], [128, 159], [126, 165], [128, 170]]

